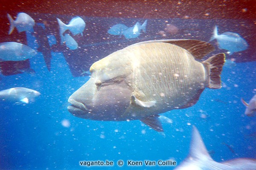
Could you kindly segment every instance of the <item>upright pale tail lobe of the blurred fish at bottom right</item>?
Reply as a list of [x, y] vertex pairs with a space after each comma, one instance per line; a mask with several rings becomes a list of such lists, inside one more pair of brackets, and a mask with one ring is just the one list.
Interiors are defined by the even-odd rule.
[[212, 160], [211, 156], [209, 155], [204, 145], [204, 141], [200, 133], [198, 132], [198, 129], [195, 126], [193, 126], [193, 131], [192, 131], [189, 157], [196, 158], [196, 159]]

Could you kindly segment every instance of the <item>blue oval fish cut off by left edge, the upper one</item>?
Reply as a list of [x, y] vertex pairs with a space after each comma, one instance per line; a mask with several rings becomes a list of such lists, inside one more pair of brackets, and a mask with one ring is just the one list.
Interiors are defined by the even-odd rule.
[[36, 54], [35, 50], [18, 42], [0, 43], [0, 61], [22, 61]]

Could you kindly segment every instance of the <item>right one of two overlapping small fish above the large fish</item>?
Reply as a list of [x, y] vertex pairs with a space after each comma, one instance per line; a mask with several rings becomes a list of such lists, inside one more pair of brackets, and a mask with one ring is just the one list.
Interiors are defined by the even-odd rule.
[[140, 23], [137, 22], [133, 27], [130, 27], [127, 30], [125, 30], [123, 35], [125, 36], [126, 39], [139, 37], [139, 35], [141, 34], [140, 33], [141, 30], [146, 32], [147, 22], [148, 20], [145, 20], [145, 22], [142, 25], [140, 25]]

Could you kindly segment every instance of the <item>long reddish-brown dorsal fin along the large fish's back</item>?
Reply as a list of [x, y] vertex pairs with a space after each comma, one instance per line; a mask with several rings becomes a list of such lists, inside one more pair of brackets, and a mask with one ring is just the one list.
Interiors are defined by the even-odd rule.
[[187, 39], [187, 40], [151, 40], [151, 41], [138, 42], [134, 45], [140, 45], [140, 44], [151, 43], [151, 42], [166, 42], [166, 43], [177, 45], [177, 46], [189, 51], [195, 57], [195, 59], [202, 59], [205, 55], [209, 54], [210, 52], [214, 51], [214, 49], [215, 49], [208, 42], [199, 41], [199, 40], [190, 40], [190, 39]]

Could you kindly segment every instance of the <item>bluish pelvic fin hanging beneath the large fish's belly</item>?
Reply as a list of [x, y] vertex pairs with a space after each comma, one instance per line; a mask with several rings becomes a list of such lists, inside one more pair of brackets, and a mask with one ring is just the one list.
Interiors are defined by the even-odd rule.
[[159, 115], [152, 115], [152, 116], [148, 116], [143, 119], [140, 119], [140, 121], [145, 123], [152, 129], [156, 130], [157, 132], [163, 132], [163, 127], [158, 117]]

